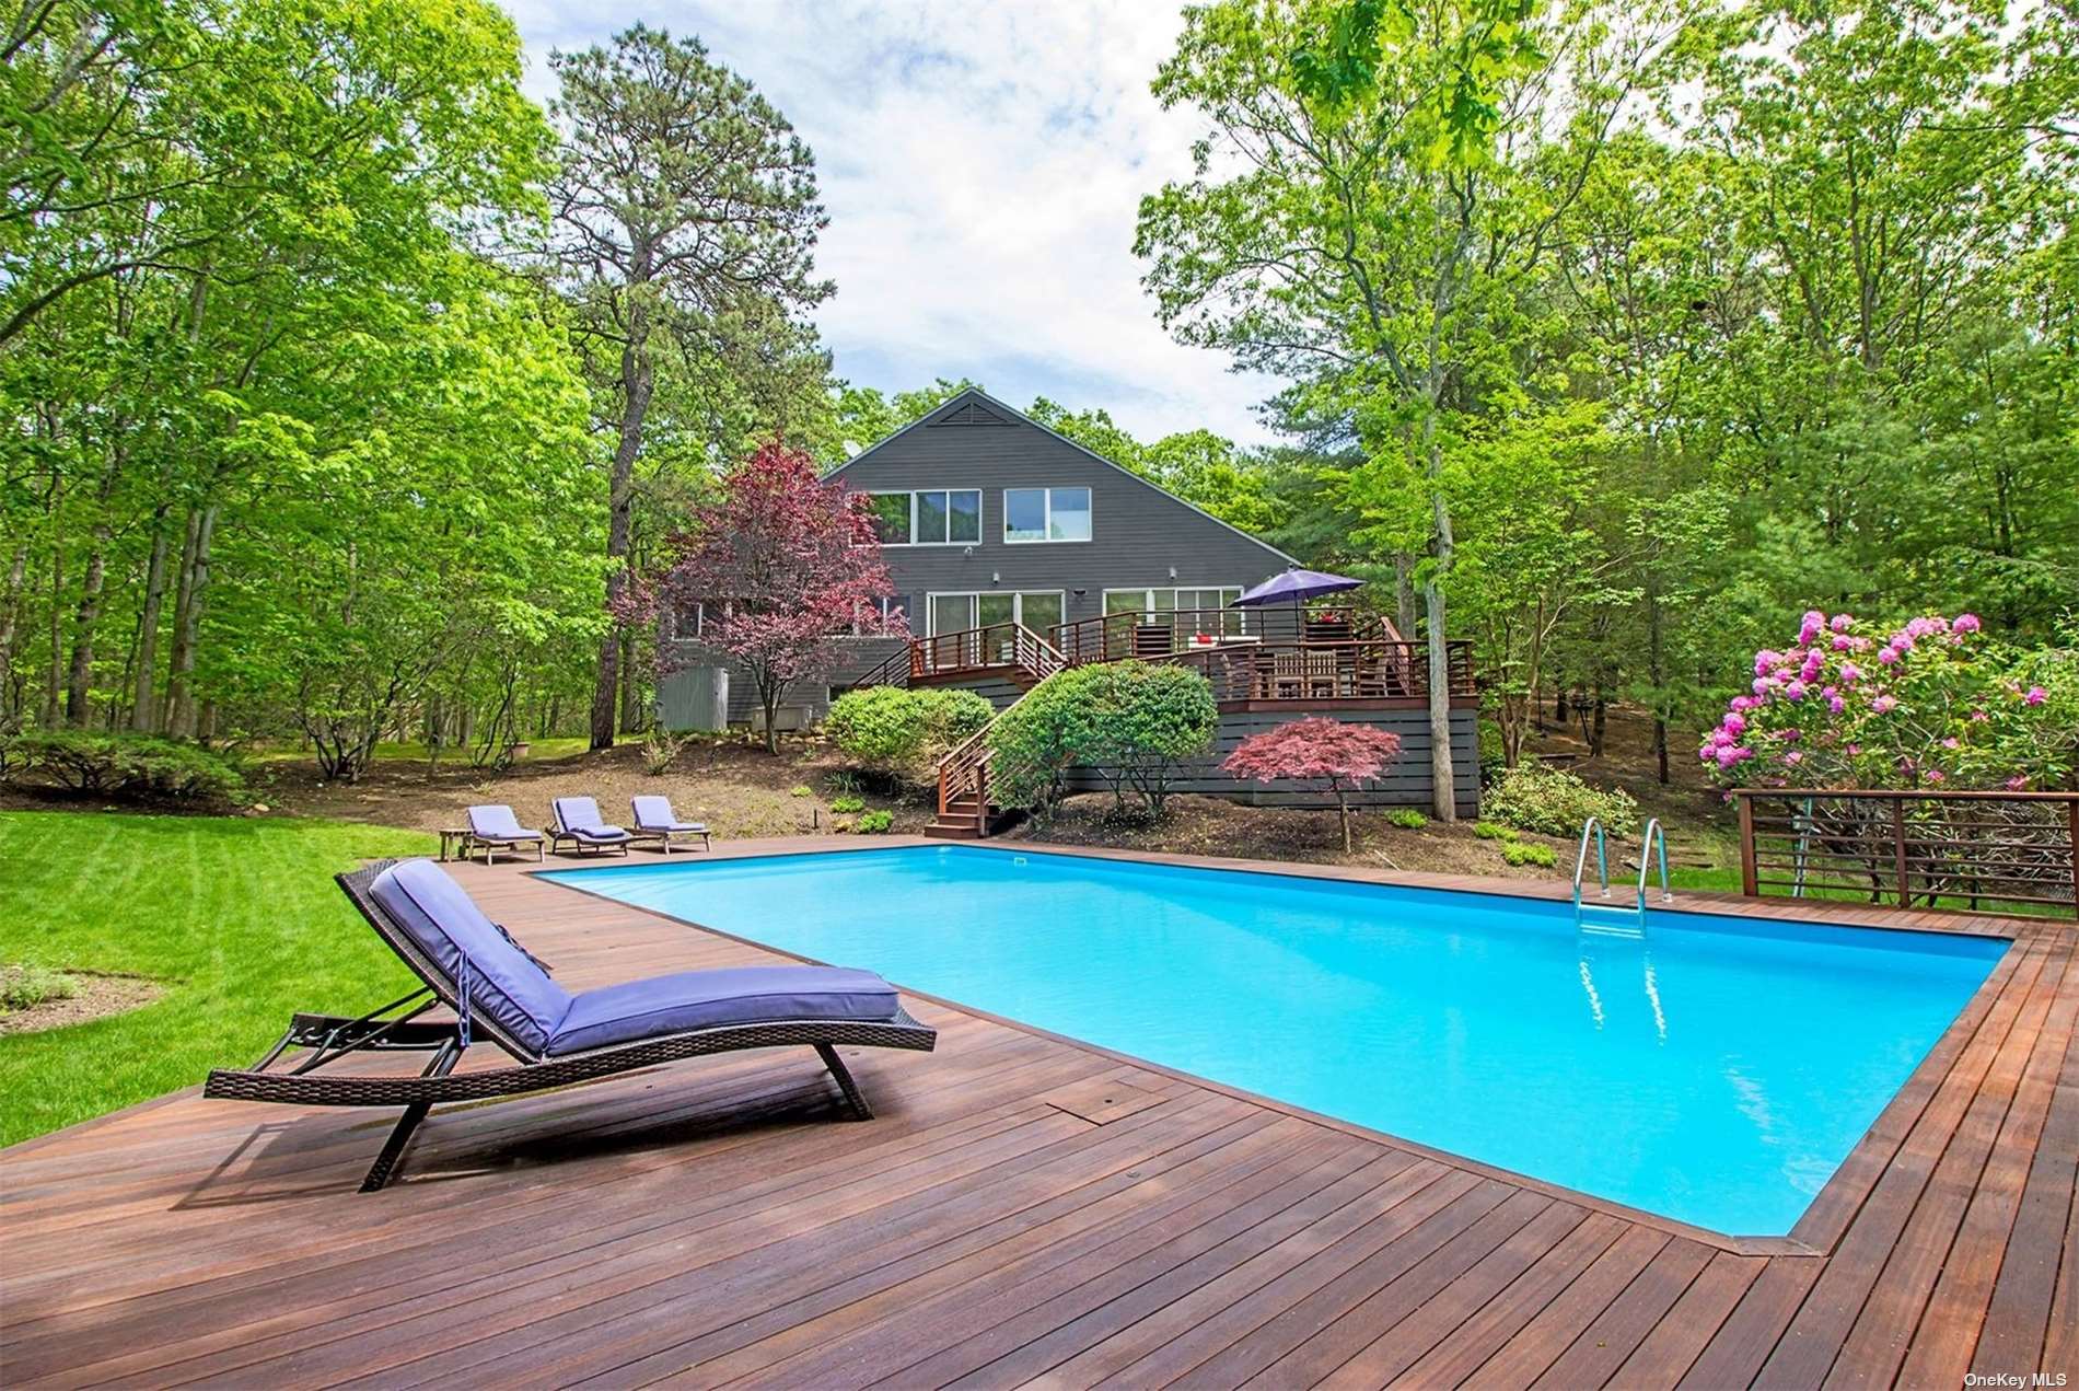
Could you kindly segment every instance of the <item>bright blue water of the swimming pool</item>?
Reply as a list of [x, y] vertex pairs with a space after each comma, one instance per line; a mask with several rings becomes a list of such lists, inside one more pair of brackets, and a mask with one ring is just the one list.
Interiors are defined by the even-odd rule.
[[1784, 1235], [2004, 942], [921, 846], [549, 873], [1734, 1235]]

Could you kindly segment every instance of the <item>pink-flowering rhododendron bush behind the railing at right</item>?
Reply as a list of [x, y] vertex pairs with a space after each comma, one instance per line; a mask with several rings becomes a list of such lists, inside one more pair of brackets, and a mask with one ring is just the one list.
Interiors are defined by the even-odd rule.
[[1884, 626], [1813, 609], [1755, 653], [1696, 757], [1736, 786], [2006, 788], [2073, 782], [2079, 653], [2017, 653], [1975, 613]]

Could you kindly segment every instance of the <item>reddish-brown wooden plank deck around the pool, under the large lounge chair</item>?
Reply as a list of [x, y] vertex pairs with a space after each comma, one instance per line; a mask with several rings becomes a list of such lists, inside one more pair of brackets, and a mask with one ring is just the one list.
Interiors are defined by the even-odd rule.
[[[455, 873], [574, 988], [769, 959], [524, 867]], [[0, 1152], [0, 1381], [2079, 1374], [2075, 931], [1967, 925], [2017, 944], [1794, 1243], [1728, 1243], [917, 1000], [936, 1054], [848, 1058], [865, 1125], [830, 1119], [800, 1050], [441, 1110], [376, 1196], [353, 1187], [387, 1112], [177, 1094]]]

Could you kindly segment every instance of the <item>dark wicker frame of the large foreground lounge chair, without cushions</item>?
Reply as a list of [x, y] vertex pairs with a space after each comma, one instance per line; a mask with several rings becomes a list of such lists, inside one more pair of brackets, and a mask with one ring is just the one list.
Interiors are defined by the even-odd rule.
[[[890, 1019], [848, 1021], [848, 1019], [775, 1019], [757, 1023], [715, 1025], [688, 1029], [661, 1038], [634, 1040], [607, 1048], [590, 1048], [559, 1056], [538, 1054], [509, 1031], [499, 1027], [484, 1013], [472, 1013], [470, 1033], [489, 1038], [518, 1060], [516, 1067], [499, 1067], [455, 1075], [455, 1065], [468, 1050], [472, 1038], [464, 1035], [459, 1019], [422, 1021], [420, 1015], [445, 1004], [459, 1015], [455, 983], [428, 961], [412, 936], [397, 925], [380, 902], [368, 892], [376, 875], [397, 861], [376, 861], [366, 869], [335, 875], [376, 936], [424, 981], [420, 990], [391, 1000], [358, 1019], [335, 1015], [295, 1015], [274, 1046], [249, 1069], [214, 1069], [202, 1094], [216, 1100], [279, 1102], [287, 1106], [403, 1106], [395, 1129], [383, 1152], [376, 1156], [368, 1177], [362, 1179], [364, 1193], [387, 1185], [403, 1158], [405, 1146], [432, 1106], [445, 1102], [476, 1102], [497, 1096], [518, 1096], [549, 1087], [568, 1087], [595, 1077], [611, 1077], [682, 1058], [699, 1058], [713, 1052], [738, 1052], [742, 1048], [815, 1048], [823, 1067], [836, 1079], [852, 1119], [871, 1121], [873, 1108], [852, 1081], [852, 1073], [838, 1058], [838, 1048], [909, 1048], [931, 1052], [938, 1046], [938, 1029], [917, 1023], [909, 1011], [896, 1006]], [[524, 950], [524, 948], [522, 948]], [[291, 1048], [308, 1048], [308, 1056], [293, 1060], [293, 1067], [277, 1071], [274, 1065]], [[333, 1062], [360, 1052], [432, 1052], [432, 1060], [418, 1077], [370, 1077], [320, 1073]]]

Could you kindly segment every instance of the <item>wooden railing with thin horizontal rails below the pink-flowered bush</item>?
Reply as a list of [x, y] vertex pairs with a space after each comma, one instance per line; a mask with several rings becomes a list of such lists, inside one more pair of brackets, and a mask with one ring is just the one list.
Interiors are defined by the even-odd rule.
[[1738, 788], [1740, 890], [2079, 915], [2079, 792]]

